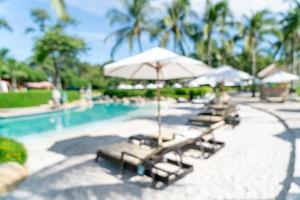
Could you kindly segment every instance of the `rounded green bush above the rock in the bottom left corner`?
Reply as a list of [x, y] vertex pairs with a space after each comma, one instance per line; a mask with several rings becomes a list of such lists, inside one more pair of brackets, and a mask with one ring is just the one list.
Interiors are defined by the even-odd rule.
[[0, 137], [0, 163], [15, 161], [23, 165], [26, 159], [27, 152], [21, 143]]

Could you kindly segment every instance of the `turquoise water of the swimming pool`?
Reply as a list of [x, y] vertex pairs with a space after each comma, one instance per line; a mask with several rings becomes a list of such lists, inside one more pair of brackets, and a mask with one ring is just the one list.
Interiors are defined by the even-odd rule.
[[86, 109], [77, 108], [60, 112], [0, 119], [0, 136], [21, 138], [49, 132], [62, 132], [80, 125], [105, 122], [105, 120], [124, 116], [137, 109], [138, 107], [134, 105], [95, 104]]

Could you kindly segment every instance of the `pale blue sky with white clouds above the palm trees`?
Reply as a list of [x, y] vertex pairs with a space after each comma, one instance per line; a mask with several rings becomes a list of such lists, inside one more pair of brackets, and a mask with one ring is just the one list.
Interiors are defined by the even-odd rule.
[[[159, 10], [172, 0], [149, 0]], [[112, 8], [120, 8], [119, 0], [66, 0], [68, 12], [78, 21], [78, 25], [70, 27], [67, 32], [73, 36], [83, 38], [89, 51], [82, 55], [82, 59], [94, 64], [101, 64], [110, 59], [110, 49], [113, 41], [104, 41], [107, 35], [116, 27], [112, 27], [106, 18], [106, 13]], [[250, 15], [255, 11], [269, 9], [273, 12], [284, 12], [288, 4], [283, 0], [229, 0], [234, 15], [239, 19], [243, 15]], [[192, 0], [195, 12], [203, 13], [205, 0]], [[50, 0], [0, 0], [0, 18], [5, 18], [13, 28], [13, 32], [0, 30], [0, 48], [9, 48], [10, 55], [19, 60], [26, 60], [32, 55], [33, 36], [25, 34], [25, 29], [33, 27], [30, 10], [42, 8], [47, 10], [55, 19], [55, 13]], [[144, 49], [156, 44], [143, 39]], [[122, 46], [116, 58], [126, 57], [136, 53], [129, 52], [126, 45]]]

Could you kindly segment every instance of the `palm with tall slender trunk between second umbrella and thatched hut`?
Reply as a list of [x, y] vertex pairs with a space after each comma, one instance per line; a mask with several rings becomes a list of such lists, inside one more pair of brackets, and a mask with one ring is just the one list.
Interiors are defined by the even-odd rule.
[[[245, 37], [245, 52], [251, 57], [252, 76], [256, 76], [256, 55], [258, 44], [264, 42], [264, 36], [273, 33], [274, 20], [273, 16], [267, 10], [262, 10], [254, 13], [252, 16], [245, 17], [245, 26], [243, 35]], [[252, 96], [255, 97], [255, 87], [253, 81]]]

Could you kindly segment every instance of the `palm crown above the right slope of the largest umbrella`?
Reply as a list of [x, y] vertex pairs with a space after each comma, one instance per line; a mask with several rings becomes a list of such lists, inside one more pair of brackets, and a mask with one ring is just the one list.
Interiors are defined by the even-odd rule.
[[168, 8], [166, 16], [156, 23], [152, 29], [152, 37], [159, 39], [160, 46], [166, 47], [173, 41], [174, 51], [179, 48], [185, 54], [187, 47], [187, 29], [189, 17], [194, 16], [190, 10], [190, 0], [176, 0]]

